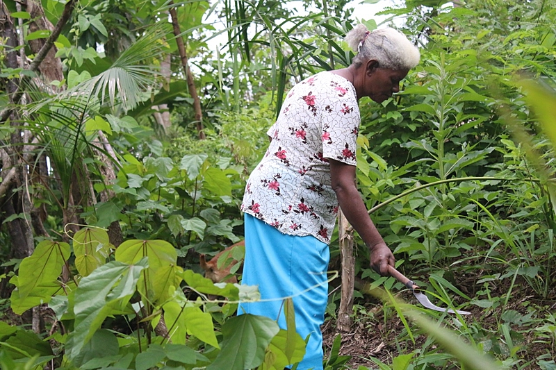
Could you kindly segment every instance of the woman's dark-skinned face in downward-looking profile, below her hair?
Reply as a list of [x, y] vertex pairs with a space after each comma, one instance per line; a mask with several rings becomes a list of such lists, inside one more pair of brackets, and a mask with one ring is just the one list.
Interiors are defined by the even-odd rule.
[[368, 96], [377, 103], [389, 99], [400, 91], [400, 81], [407, 76], [407, 69], [380, 68], [375, 60], [369, 60], [365, 69], [361, 96]]

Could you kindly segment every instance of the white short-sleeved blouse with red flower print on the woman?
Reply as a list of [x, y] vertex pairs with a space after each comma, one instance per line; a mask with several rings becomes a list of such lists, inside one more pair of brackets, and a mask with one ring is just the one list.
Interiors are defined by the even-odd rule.
[[320, 72], [295, 85], [268, 130], [272, 141], [247, 181], [241, 210], [281, 233], [329, 244], [338, 200], [328, 158], [356, 165], [360, 121], [345, 78]]

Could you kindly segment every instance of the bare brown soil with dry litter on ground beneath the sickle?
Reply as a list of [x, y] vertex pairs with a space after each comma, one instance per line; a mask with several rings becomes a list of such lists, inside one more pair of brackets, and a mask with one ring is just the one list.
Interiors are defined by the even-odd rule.
[[[485, 299], [484, 296], [476, 296], [477, 291], [482, 289], [482, 284], [477, 285], [476, 282], [483, 275], [484, 271], [477, 271], [475, 276], [468, 274], [458, 276], [459, 289], [468, 294], [468, 296], [471, 296], [471, 298]], [[427, 277], [423, 276], [420, 280], [426, 281]], [[502, 303], [507, 298], [507, 292], [512, 292], [507, 300], [504, 311], [515, 310], [522, 315], [532, 314], [530, 319], [509, 322], [514, 345], [521, 345], [521, 350], [517, 353], [518, 358], [523, 360], [522, 364], [530, 362], [527, 366], [519, 367], [519, 369], [539, 369], [536, 359], [540, 355], [546, 355], [546, 353], [554, 351], [554, 348], [551, 347], [550, 340], [546, 341], [546, 343], [537, 340], [539, 338], [535, 337], [534, 328], [543, 325], [541, 323], [543, 317], [546, 317], [550, 312], [555, 312], [556, 287], [553, 287], [553, 291], [548, 294], [548, 300], [541, 301], [530, 288], [530, 285], [524, 280], [521, 281], [519, 277], [514, 285], [512, 285], [512, 278], [506, 278], [493, 286], [494, 288], [490, 292], [491, 299], [500, 303], [498, 308], [486, 310], [477, 305], [469, 305], [462, 308], [463, 310], [471, 311], [471, 314], [465, 317], [468, 326], [475, 326], [477, 331], [480, 332], [477, 333], [476, 337], [474, 335], [475, 341], [482, 342], [481, 339], [484, 339], [492, 343], [493, 346], [499, 345], [502, 353], [507, 351], [507, 347], [504, 348], [503, 339], [500, 339], [501, 331], [499, 326], [500, 323], [505, 322], [500, 317], [502, 314]], [[407, 290], [398, 294], [397, 298], [402, 298], [407, 303], [418, 305], [416, 298]], [[457, 297], [454, 297], [454, 299], [457, 301]], [[391, 364], [392, 359], [397, 355], [411, 353], [423, 348], [427, 338], [425, 335], [416, 335], [418, 328], [411, 321], [408, 321], [408, 323], [412, 333], [416, 335], [415, 344], [407, 337], [400, 317], [392, 308], [385, 307], [381, 301], [377, 301], [372, 296], [366, 295], [363, 299], [358, 298], [358, 300], [356, 299], [355, 302], [355, 311], [357, 313], [354, 314], [350, 332], [340, 333], [341, 349], [339, 355], [351, 357], [347, 362], [347, 369], [357, 369], [361, 365], [369, 369], [378, 369], [377, 364], [370, 360], [371, 357], [386, 364]], [[447, 320], [444, 323], [450, 327], [450, 323]], [[334, 343], [334, 338], [338, 335], [336, 322], [333, 319], [326, 321], [322, 326], [322, 333], [324, 337], [325, 358], [327, 358]], [[481, 335], [483, 335], [482, 338]], [[427, 347], [426, 351], [434, 349], [436, 349], [436, 346]], [[438, 351], [441, 351], [441, 348], [438, 348]], [[496, 353], [496, 351], [493, 352]], [[507, 354], [500, 356], [502, 359], [507, 357]], [[459, 369], [459, 366], [455, 364], [453, 369]]]

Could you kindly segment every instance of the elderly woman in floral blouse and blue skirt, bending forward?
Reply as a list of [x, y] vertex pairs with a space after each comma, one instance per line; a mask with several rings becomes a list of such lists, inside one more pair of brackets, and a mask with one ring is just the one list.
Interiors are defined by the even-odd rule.
[[357, 102], [369, 96], [381, 103], [398, 92], [419, 51], [393, 28], [370, 32], [359, 24], [345, 40], [358, 52], [350, 67], [320, 72], [288, 92], [241, 205], [242, 284], [259, 285], [264, 301], [242, 303], [238, 313], [277, 319], [285, 328], [281, 299], [293, 296], [297, 333], [309, 336], [299, 370], [322, 369], [320, 325], [338, 206], [368, 246], [371, 267], [386, 275], [394, 264], [355, 185]]

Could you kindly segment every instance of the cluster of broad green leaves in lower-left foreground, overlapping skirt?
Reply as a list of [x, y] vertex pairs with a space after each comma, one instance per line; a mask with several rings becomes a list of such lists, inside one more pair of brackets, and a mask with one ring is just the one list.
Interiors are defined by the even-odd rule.
[[[22, 360], [36, 369], [56, 359], [68, 370], [109, 366], [147, 370], [161, 364], [181, 369], [259, 365], [282, 369], [302, 359], [305, 345], [295, 333], [291, 299], [286, 301], [286, 330], [265, 317], [231, 317], [240, 298], [256, 299], [256, 289], [217, 286], [183, 270], [177, 266], [176, 249], [163, 240], [129, 239], [114, 251], [104, 244], [106, 239], [106, 231], [98, 228], [83, 228], [76, 235], [74, 251], [88, 244], [95, 245], [95, 251], [109, 252], [95, 255], [97, 266], [87, 265], [86, 276], [80, 274], [82, 264], [77, 258], [71, 263], [67, 244], [42, 242], [22, 261], [19, 275], [12, 278], [17, 287], [12, 292], [12, 309], [22, 314], [48, 303], [56, 323], [65, 330], [50, 336], [56, 342], [54, 353], [35, 333], [1, 322], [0, 358], [5, 364]], [[63, 277], [63, 267], [69, 270], [70, 280]], [[188, 292], [195, 292], [197, 298]], [[218, 305], [205, 301], [204, 294], [227, 301]], [[213, 315], [226, 319], [221, 332], [214, 326]], [[108, 317], [126, 321], [129, 333], [111, 330]]]

